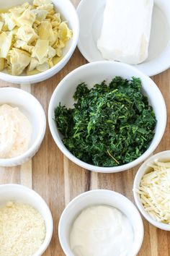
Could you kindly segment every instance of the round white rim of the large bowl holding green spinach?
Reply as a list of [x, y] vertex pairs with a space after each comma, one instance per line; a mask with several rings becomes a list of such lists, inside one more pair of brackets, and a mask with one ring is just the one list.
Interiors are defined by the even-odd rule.
[[[56, 130], [53, 129], [53, 102], [55, 101], [55, 95], [57, 94], [58, 90], [63, 86], [64, 82], [68, 79], [68, 77], [71, 77], [73, 74], [76, 74], [76, 72], [81, 71], [82, 69], [86, 69], [86, 67], [93, 67], [93, 66], [97, 66], [97, 65], [117, 65], [120, 67], [125, 68], [130, 68], [132, 70], [134, 70], [135, 72], [138, 72], [139, 77], [144, 77], [146, 78], [150, 85], [158, 91], [161, 101], [162, 101], [162, 105], [164, 106], [164, 110], [162, 111], [162, 129], [161, 131], [159, 131], [158, 133], [158, 139], [156, 140], [156, 142], [150, 146], [142, 155], [140, 155], [139, 158], [136, 158], [134, 161], [130, 162], [130, 163], [126, 163], [122, 166], [115, 166], [115, 167], [98, 167], [98, 166], [93, 166], [89, 163], [85, 163], [84, 161], [81, 161], [79, 158], [76, 158], [64, 145], [63, 143], [61, 143], [60, 140], [58, 140], [58, 137], [55, 136]], [[151, 153], [153, 153], [153, 151], [156, 149], [156, 147], [158, 146], [159, 142], [161, 142], [161, 138], [164, 135], [164, 131], [166, 128], [166, 104], [164, 101], [164, 97], [161, 94], [161, 91], [158, 89], [157, 85], [155, 82], [153, 82], [153, 80], [151, 80], [150, 77], [148, 77], [146, 74], [143, 74], [143, 72], [140, 72], [140, 70], [138, 70], [136, 67], [132, 67], [129, 64], [125, 64], [122, 62], [117, 62], [117, 61], [94, 61], [88, 64], [84, 64], [80, 67], [77, 67], [76, 69], [74, 69], [73, 71], [71, 71], [70, 73], [68, 73], [66, 75], [66, 77], [63, 77], [63, 80], [61, 80], [61, 82], [58, 83], [58, 86], [55, 88], [55, 90], [53, 91], [53, 95], [50, 98], [50, 103], [49, 103], [49, 107], [48, 107], [48, 124], [50, 127], [50, 132], [51, 135], [53, 137], [53, 140], [55, 141], [56, 145], [58, 145], [58, 148], [60, 148], [60, 150], [62, 151], [62, 153], [64, 155], [66, 155], [67, 158], [69, 158], [71, 161], [73, 161], [73, 163], [76, 163], [77, 165], [81, 166], [82, 168], [86, 168], [90, 171], [95, 171], [95, 172], [101, 172], [101, 173], [115, 173], [115, 172], [119, 172], [119, 171], [125, 171], [128, 170], [129, 168], [133, 168], [134, 166], [137, 166], [139, 163], [141, 163], [142, 161], [144, 161], [148, 155], [151, 155]], [[56, 128], [57, 129], [57, 128]], [[154, 138], [154, 137], [153, 137]]]

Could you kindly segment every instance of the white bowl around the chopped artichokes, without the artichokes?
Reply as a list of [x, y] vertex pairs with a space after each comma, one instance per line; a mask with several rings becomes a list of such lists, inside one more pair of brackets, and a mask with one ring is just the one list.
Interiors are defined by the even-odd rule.
[[[29, 3], [32, 3], [33, 0], [27, 1]], [[57, 11], [61, 13], [61, 17], [63, 18], [63, 20], [68, 21], [68, 26], [71, 28], [71, 30], [73, 30], [73, 38], [68, 41], [66, 48], [64, 48], [63, 50], [63, 59], [61, 59], [61, 61], [58, 62], [58, 64], [56, 64], [54, 67], [46, 70], [45, 72], [42, 72], [40, 74], [34, 74], [31, 76], [13, 76], [10, 74], [6, 74], [5, 72], [0, 72], [1, 80], [18, 84], [41, 82], [58, 73], [61, 69], [63, 69], [63, 67], [67, 64], [68, 60], [71, 58], [79, 38], [79, 19], [76, 14], [76, 9], [73, 7], [73, 4], [69, 0], [52, 1]], [[10, 7], [23, 4], [24, 2], [24, 0], [1, 1], [0, 9], [8, 9]]]

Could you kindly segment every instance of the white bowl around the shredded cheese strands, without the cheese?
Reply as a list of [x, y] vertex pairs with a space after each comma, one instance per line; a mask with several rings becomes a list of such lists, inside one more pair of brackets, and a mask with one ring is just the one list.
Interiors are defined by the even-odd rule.
[[144, 174], [148, 171], [148, 163], [153, 163], [158, 159], [159, 161], [170, 161], [170, 150], [162, 151], [160, 153], [157, 153], [155, 155], [152, 155], [151, 158], [148, 158], [138, 169], [137, 174], [135, 175], [134, 183], [133, 183], [133, 195], [135, 198], [135, 203], [138, 206], [138, 209], [140, 210], [140, 213], [142, 213], [143, 217], [146, 218], [148, 222], [150, 222], [153, 226], [156, 226], [158, 229], [164, 229], [166, 231], [170, 231], [170, 225], [166, 223], [161, 223], [158, 221], [154, 221], [153, 218], [146, 212], [145, 208], [143, 207], [142, 202], [140, 202], [140, 195], [138, 192], [136, 192], [136, 189], [138, 189], [140, 185], [140, 181]]

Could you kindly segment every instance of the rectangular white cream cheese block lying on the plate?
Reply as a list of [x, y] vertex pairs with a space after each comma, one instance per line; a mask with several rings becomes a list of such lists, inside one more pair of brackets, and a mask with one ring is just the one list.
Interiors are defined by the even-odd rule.
[[153, 0], [107, 0], [97, 47], [104, 59], [139, 64], [148, 57]]

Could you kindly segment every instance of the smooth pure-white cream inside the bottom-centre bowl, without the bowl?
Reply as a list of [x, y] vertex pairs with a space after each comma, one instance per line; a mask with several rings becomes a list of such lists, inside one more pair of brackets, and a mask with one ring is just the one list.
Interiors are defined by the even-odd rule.
[[127, 256], [133, 246], [133, 228], [117, 208], [91, 206], [74, 221], [70, 244], [75, 256]]

